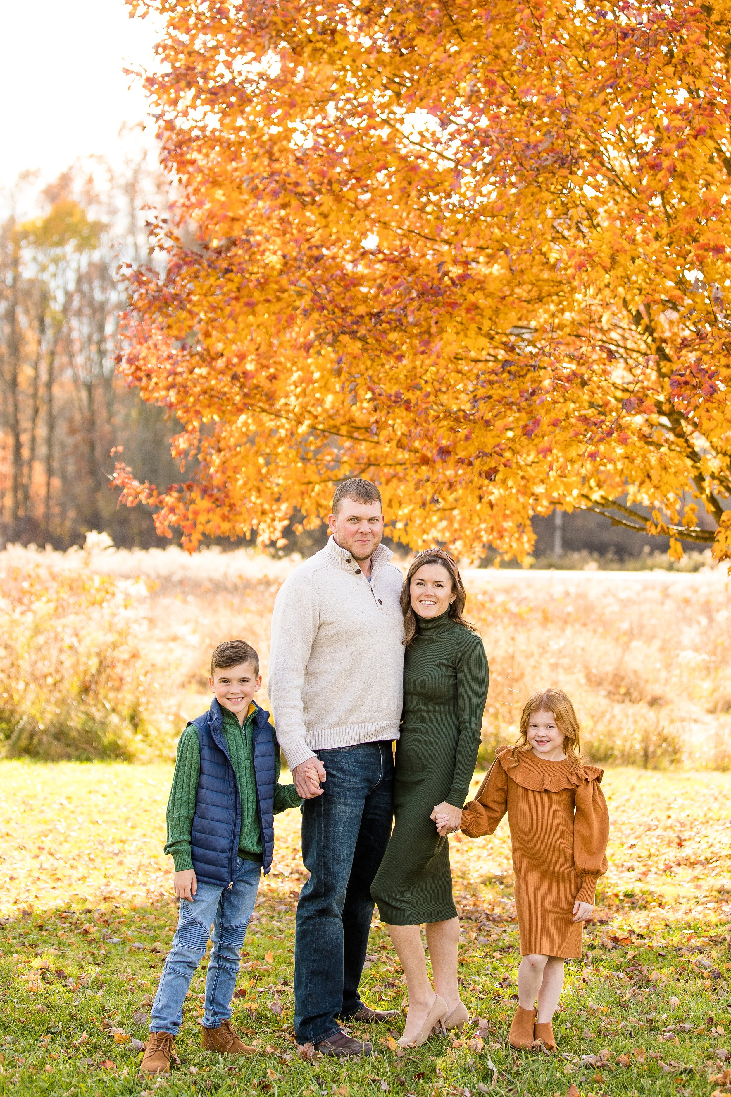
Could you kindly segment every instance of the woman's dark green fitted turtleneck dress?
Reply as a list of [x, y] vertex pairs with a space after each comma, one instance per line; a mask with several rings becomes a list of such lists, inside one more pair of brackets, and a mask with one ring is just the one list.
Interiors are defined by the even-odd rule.
[[403, 717], [396, 747], [396, 825], [370, 894], [381, 921], [416, 926], [457, 917], [449, 841], [430, 818], [461, 807], [480, 746], [488, 660], [476, 632], [443, 613], [416, 618], [403, 664]]

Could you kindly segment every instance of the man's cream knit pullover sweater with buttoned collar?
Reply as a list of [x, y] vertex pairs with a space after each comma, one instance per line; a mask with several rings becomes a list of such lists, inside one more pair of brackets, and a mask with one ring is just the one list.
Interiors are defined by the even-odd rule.
[[330, 538], [276, 596], [267, 692], [290, 770], [315, 750], [399, 737], [403, 580], [392, 555], [376, 548], [368, 583]]

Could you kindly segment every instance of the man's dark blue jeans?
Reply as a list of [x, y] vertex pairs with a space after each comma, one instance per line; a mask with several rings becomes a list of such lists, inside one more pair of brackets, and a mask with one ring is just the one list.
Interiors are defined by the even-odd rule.
[[391, 834], [390, 742], [317, 750], [327, 771], [322, 795], [302, 803], [302, 861], [310, 878], [297, 905], [295, 1033], [318, 1043], [338, 1017], [362, 1006], [374, 902], [370, 884]]

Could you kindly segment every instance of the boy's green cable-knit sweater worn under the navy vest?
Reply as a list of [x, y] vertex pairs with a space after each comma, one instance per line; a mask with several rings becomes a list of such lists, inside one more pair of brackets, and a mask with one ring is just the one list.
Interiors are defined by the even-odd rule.
[[[224, 716], [224, 735], [233, 766], [233, 772], [241, 794], [241, 830], [239, 832], [239, 857], [248, 861], [262, 859], [262, 834], [256, 811], [256, 778], [254, 774], [254, 755], [251, 736], [251, 722], [255, 710], [253, 706], [243, 722], [238, 716], [221, 706]], [[279, 747], [275, 744], [276, 787], [274, 789], [274, 814], [284, 812], [287, 807], [298, 807], [301, 804], [294, 784], [279, 784]], [[195, 724], [189, 724], [178, 742], [178, 757], [172, 789], [168, 801], [168, 840], [165, 853], [172, 853], [175, 872], [193, 868], [191, 860], [191, 829], [195, 814], [195, 798], [198, 791], [201, 776], [201, 745], [198, 730]]]

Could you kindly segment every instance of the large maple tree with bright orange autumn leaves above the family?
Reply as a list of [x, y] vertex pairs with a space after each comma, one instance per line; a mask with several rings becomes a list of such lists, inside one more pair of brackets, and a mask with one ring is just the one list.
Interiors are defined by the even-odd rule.
[[728, 0], [130, 7], [178, 199], [122, 370], [197, 461], [125, 501], [276, 539], [362, 474], [411, 545], [731, 552]]

